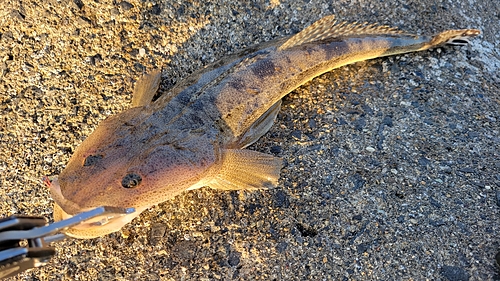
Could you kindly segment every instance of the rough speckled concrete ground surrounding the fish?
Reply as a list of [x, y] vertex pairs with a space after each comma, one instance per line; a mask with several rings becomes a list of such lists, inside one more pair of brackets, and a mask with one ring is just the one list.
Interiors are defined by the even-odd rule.
[[276, 189], [186, 192], [12, 280], [499, 280], [498, 1], [248, 2], [2, 0], [0, 217], [51, 217], [41, 177], [154, 67], [165, 91], [328, 14], [483, 35], [291, 93], [251, 147], [284, 159]]

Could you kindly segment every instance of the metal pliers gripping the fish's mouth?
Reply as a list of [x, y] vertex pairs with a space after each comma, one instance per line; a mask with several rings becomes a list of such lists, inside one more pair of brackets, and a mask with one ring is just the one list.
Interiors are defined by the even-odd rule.
[[44, 217], [11, 216], [0, 219], [0, 279], [49, 262], [55, 255], [51, 242], [66, 236], [61, 231], [101, 215], [126, 215], [134, 208], [98, 207], [48, 224]]

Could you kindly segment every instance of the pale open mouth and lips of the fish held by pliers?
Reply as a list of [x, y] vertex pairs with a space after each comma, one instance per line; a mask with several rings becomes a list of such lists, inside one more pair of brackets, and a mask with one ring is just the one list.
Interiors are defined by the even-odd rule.
[[[65, 220], [74, 215], [92, 210], [93, 208], [80, 208], [74, 202], [64, 198], [57, 178], [50, 183], [50, 193], [54, 199], [54, 221]], [[95, 206], [100, 207], [100, 206]], [[90, 239], [119, 231], [124, 225], [147, 209], [147, 207], [136, 208], [130, 214], [106, 213], [90, 220], [83, 221], [73, 227], [63, 230], [64, 234], [78, 239]]]

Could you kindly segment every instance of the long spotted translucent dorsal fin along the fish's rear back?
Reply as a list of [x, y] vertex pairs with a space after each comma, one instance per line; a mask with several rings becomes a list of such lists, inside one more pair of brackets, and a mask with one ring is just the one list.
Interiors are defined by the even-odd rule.
[[337, 23], [335, 15], [326, 16], [311, 24], [301, 32], [288, 39], [279, 50], [299, 46], [305, 43], [321, 41], [328, 38], [346, 37], [351, 35], [403, 34], [394, 27], [368, 23]]

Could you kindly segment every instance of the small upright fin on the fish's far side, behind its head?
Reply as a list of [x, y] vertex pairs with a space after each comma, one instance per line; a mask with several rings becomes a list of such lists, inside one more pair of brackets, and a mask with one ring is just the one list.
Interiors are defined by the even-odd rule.
[[155, 70], [150, 74], [144, 74], [134, 87], [134, 95], [132, 96], [132, 106], [144, 106], [153, 100], [154, 95], [158, 91], [161, 82], [161, 70]]

